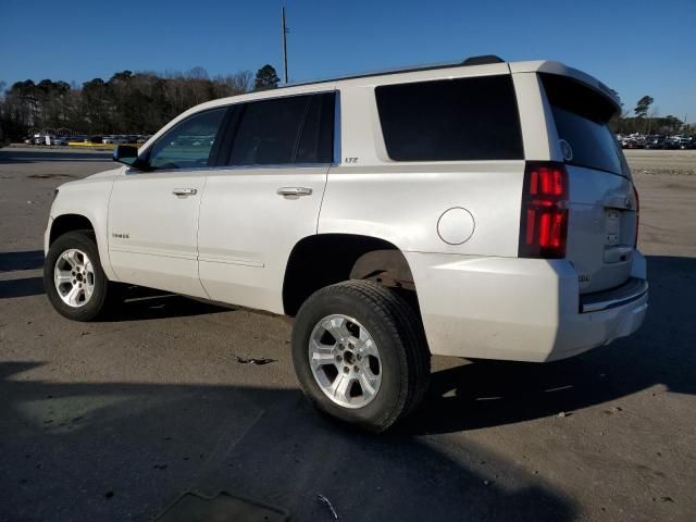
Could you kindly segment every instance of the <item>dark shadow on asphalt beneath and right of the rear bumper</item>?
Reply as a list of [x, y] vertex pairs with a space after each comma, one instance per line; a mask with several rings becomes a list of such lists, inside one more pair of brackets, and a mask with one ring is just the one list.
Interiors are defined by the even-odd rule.
[[546, 364], [474, 361], [432, 375], [405, 433], [451, 433], [572, 413], [664, 385], [696, 395], [696, 259], [648, 257], [648, 315], [631, 337]]

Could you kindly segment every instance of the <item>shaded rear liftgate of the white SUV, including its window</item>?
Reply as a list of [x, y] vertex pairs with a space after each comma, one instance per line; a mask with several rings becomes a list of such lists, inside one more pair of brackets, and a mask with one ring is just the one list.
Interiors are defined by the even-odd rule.
[[631, 276], [638, 215], [631, 172], [607, 125], [616, 108], [575, 79], [539, 77], [568, 172], [566, 257], [577, 270], [581, 294], [620, 286]]

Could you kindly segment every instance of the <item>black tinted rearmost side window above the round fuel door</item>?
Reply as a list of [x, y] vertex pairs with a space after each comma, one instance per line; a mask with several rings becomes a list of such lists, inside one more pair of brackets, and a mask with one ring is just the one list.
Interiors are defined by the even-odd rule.
[[524, 158], [510, 75], [385, 85], [375, 96], [391, 160]]

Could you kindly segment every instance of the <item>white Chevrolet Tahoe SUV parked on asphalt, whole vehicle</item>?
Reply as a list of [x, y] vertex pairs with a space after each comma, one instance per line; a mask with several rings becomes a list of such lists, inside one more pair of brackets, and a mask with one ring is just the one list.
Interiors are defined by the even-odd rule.
[[46, 289], [78, 321], [120, 283], [295, 316], [309, 398], [382, 431], [431, 355], [543, 362], [638, 328], [618, 109], [576, 70], [495, 58], [203, 103], [60, 187]]

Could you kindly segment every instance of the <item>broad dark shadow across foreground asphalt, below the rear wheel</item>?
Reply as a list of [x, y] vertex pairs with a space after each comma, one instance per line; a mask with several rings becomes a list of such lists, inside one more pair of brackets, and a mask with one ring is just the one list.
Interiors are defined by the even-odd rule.
[[[188, 490], [226, 490], [297, 521], [332, 519], [320, 494], [340, 520], [562, 522], [577, 512], [539, 475], [475, 444], [435, 449], [346, 431], [296, 390], [17, 378], [37, 366], [0, 363], [2, 520], [152, 520]], [[474, 469], [483, 461], [515, 486]]]

